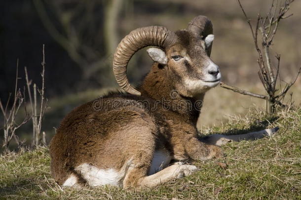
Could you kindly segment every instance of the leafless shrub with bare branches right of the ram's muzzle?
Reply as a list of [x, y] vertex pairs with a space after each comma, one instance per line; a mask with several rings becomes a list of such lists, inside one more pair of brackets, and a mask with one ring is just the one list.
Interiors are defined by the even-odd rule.
[[[271, 62], [271, 53], [269, 51], [269, 47], [272, 45], [274, 36], [276, 35], [279, 23], [281, 20], [286, 19], [293, 14], [285, 16], [287, 11], [290, 8], [290, 4], [294, 0], [272, 0], [271, 6], [268, 10], [268, 13], [266, 16], [261, 16], [261, 14], [258, 14], [256, 26], [252, 26], [251, 20], [247, 16], [240, 0], [237, 0], [238, 4], [247, 20], [247, 23], [249, 24], [250, 31], [254, 40], [254, 45], [256, 48], [256, 51], [258, 53], [258, 66], [259, 66], [259, 72], [258, 76], [260, 80], [262, 81], [263, 87], [266, 91], [265, 95], [262, 94], [255, 94], [237, 87], [233, 87], [230, 85], [227, 85], [226, 83], [221, 83], [221, 86], [230, 89], [234, 92], [238, 92], [240, 94], [249, 95], [257, 98], [261, 98], [265, 100], [265, 113], [266, 114], [272, 114], [275, 112], [275, 106], [280, 105], [281, 107], [287, 107], [287, 105], [284, 105], [283, 99], [285, 95], [287, 94], [288, 90], [292, 87], [292, 85], [297, 80], [301, 68], [298, 71], [298, 74], [296, 78], [290, 82], [286, 83], [283, 90], [280, 90], [276, 88], [277, 80], [280, 80], [279, 78], [279, 68], [280, 68], [280, 54], [277, 54], [275, 56], [277, 60], [276, 66], [273, 66]], [[262, 46], [259, 46], [258, 42], [258, 33], [261, 34], [261, 44]], [[281, 81], [281, 80], [280, 80]]]

